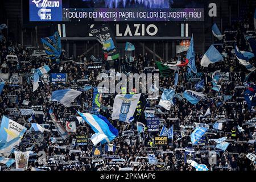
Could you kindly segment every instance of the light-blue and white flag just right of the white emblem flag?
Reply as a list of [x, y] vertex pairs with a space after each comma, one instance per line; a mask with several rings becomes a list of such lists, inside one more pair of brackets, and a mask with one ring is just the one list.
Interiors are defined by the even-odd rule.
[[171, 106], [174, 105], [174, 102], [172, 102], [174, 94], [174, 89], [164, 89], [159, 105], [164, 107], [166, 110], [171, 110]]

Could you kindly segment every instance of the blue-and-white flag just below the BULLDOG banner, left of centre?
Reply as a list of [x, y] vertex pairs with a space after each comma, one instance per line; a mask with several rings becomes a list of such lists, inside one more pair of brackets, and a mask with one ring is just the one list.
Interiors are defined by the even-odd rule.
[[82, 92], [73, 90], [73, 89], [66, 89], [66, 90], [56, 90], [52, 93], [52, 101], [59, 101], [66, 107], [71, 105], [73, 102]]

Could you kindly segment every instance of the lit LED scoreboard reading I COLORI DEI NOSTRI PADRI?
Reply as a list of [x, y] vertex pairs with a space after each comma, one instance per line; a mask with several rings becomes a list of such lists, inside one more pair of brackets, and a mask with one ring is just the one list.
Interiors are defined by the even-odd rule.
[[115, 1], [29, 0], [30, 22], [204, 21], [203, 8], [172, 8], [176, 1], [154, 1], [149, 4], [137, 4], [137, 1], [131, 0], [134, 3], [129, 3], [128, 0]]

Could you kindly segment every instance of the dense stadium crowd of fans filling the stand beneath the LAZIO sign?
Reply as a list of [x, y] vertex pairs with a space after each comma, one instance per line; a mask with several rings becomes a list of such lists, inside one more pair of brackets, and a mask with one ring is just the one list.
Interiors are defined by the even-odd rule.
[[[171, 111], [164, 110], [164, 112], [156, 111], [156, 116], [163, 121], [162, 125], [167, 128], [174, 125], [174, 138], [169, 141], [166, 146], [154, 146], [154, 135], [158, 133], [150, 133], [144, 131], [142, 134], [137, 134], [136, 122], [142, 122], [146, 124], [146, 118], [144, 115], [144, 109], [156, 108], [159, 103], [158, 100], [147, 100], [147, 94], [143, 94], [141, 105], [138, 106], [137, 111], [134, 114], [135, 121], [127, 124], [125, 122], [119, 122], [112, 120], [111, 113], [113, 109], [113, 102], [115, 94], [102, 94], [100, 114], [104, 115], [112, 125], [118, 129], [119, 135], [113, 140], [116, 150], [114, 152], [105, 151], [102, 146], [103, 156], [93, 155], [93, 144], [89, 138], [93, 134], [92, 129], [86, 123], [81, 123], [76, 119], [77, 110], [81, 113], [88, 113], [92, 108], [93, 102], [93, 89], [83, 91], [82, 94], [72, 102], [71, 107], [65, 107], [59, 103], [51, 102], [51, 94], [54, 90], [72, 88], [72, 85], [77, 84], [78, 88], [83, 88], [84, 84], [96, 86], [100, 83], [97, 80], [97, 76], [102, 73], [108, 73], [110, 69], [115, 69], [120, 73], [145, 73], [148, 67], [154, 67], [154, 73], [158, 72], [158, 67], [155, 64], [155, 60], [146, 55], [139, 54], [134, 56], [133, 62], [130, 62], [127, 57], [121, 57], [120, 60], [115, 60], [114, 64], [109, 64], [108, 61], [102, 60], [102, 57], [96, 57], [101, 63], [94, 63], [94, 60], [86, 57], [85, 55], [78, 56], [76, 59], [69, 60], [65, 56], [65, 51], [60, 56], [60, 64], [48, 59], [36, 59], [32, 60], [31, 52], [23, 46], [13, 44], [11, 39], [3, 38], [0, 42], [0, 72], [10, 73], [10, 77], [13, 73], [18, 73], [23, 79], [17, 86], [11, 85], [6, 82], [5, 88], [0, 96], [0, 113], [1, 117], [12, 118], [14, 121], [26, 126], [30, 129], [31, 123], [39, 123], [45, 125], [51, 132], [44, 132], [38, 134], [35, 131], [31, 131], [24, 135], [24, 140], [29, 142], [20, 143], [19, 147], [16, 147], [20, 151], [27, 151], [26, 148], [35, 145], [32, 151], [34, 154], [38, 154], [40, 151], [46, 152], [47, 164], [39, 164], [37, 159], [39, 155], [31, 155], [28, 162], [28, 170], [32, 167], [61, 171], [88, 171], [88, 170], [106, 170], [106, 171], [118, 171], [119, 168], [131, 167], [133, 170], [138, 171], [155, 171], [155, 170], [171, 170], [171, 171], [195, 171], [190, 163], [185, 163], [185, 151], [184, 148], [192, 147], [191, 138], [192, 129], [195, 125], [193, 123], [207, 123], [213, 125], [216, 122], [216, 118], [220, 115], [225, 115], [225, 118], [229, 120], [224, 122], [224, 126], [221, 131], [212, 131], [206, 134], [206, 138], [203, 144], [193, 146], [195, 149], [195, 160], [197, 163], [205, 164], [210, 170], [218, 171], [255, 171], [256, 164], [247, 159], [246, 155], [250, 152], [255, 154], [255, 140], [254, 143], [248, 141], [253, 139], [254, 125], [246, 124], [251, 119], [256, 117], [255, 110], [249, 111], [247, 104], [242, 99], [245, 88], [243, 87], [243, 80], [229, 81], [226, 85], [222, 85], [220, 92], [212, 90], [212, 80], [210, 73], [217, 71], [238, 73], [242, 72], [246, 75], [249, 73], [243, 65], [239, 63], [235, 54], [234, 46], [230, 45], [230, 41], [235, 41], [237, 46], [242, 50], [250, 51], [249, 44], [245, 39], [246, 31], [253, 29], [253, 24], [250, 24], [249, 19], [243, 21], [233, 22], [230, 30], [226, 31], [226, 36], [222, 42], [217, 44], [216, 48], [224, 55], [224, 61], [211, 64], [208, 68], [201, 67], [200, 60], [203, 55], [196, 55], [196, 67], [197, 72], [205, 73], [204, 79], [206, 83], [204, 85], [203, 93], [207, 95], [206, 98], [201, 100], [199, 104], [192, 105], [186, 100], [179, 100], [174, 98], [175, 106]], [[237, 30], [233, 32], [233, 30]], [[233, 46], [233, 48], [232, 48]], [[7, 61], [7, 55], [18, 56], [18, 63], [13, 61]], [[183, 55], [185, 57], [185, 55]], [[184, 59], [182, 57], [182, 59]], [[174, 57], [170, 61], [176, 61], [178, 58]], [[162, 60], [163, 61], [163, 60]], [[168, 62], [170, 62], [168, 61]], [[167, 61], [166, 61], [167, 62]], [[254, 59], [255, 63], [255, 59]], [[47, 79], [39, 83], [38, 90], [33, 92], [32, 75], [35, 73], [35, 69], [48, 65], [51, 68], [48, 74], [51, 73], [67, 73], [68, 82], [49, 82]], [[89, 68], [101, 66], [101, 68]], [[145, 69], [146, 68], [146, 69]], [[195, 90], [195, 83], [188, 82], [185, 79], [187, 73], [187, 67], [183, 67], [179, 71], [179, 80], [175, 86], [175, 74], [170, 77], [160, 77], [159, 88], [174, 88], [177, 93], [183, 93], [185, 90]], [[160, 74], [160, 73], [159, 73]], [[255, 76], [255, 75], [254, 75]], [[85, 82], [77, 82], [77, 80], [86, 80]], [[255, 77], [251, 78], [251, 82], [255, 84]], [[159, 96], [162, 95], [162, 90], [159, 90]], [[10, 97], [18, 96], [15, 101], [11, 101]], [[224, 101], [222, 96], [232, 96], [232, 99]], [[24, 105], [23, 101], [29, 101], [28, 105]], [[33, 106], [41, 106], [39, 110], [43, 110], [44, 115], [19, 115], [11, 114], [8, 109], [28, 109]], [[140, 107], [141, 106], [141, 107]], [[34, 107], [33, 107], [34, 108]], [[210, 118], [201, 118], [200, 115], [204, 114], [207, 109], [210, 109]], [[69, 134], [67, 139], [58, 139], [58, 142], [53, 142], [52, 138], [60, 138], [59, 133], [56, 131], [55, 126], [51, 122], [52, 118], [49, 115], [49, 110], [55, 113], [57, 121], [61, 121], [65, 126], [67, 121], [76, 122], [76, 133]], [[157, 108], [156, 108], [157, 109]], [[172, 120], [170, 118], [176, 118]], [[28, 121], [30, 120], [30, 121]], [[254, 121], [255, 123], [255, 121]], [[243, 128], [243, 132], [238, 131], [237, 126]], [[187, 127], [188, 126], [188, 127]], [[162, 127], [160, 127], [161, 130]], [[181, 136], [182, 130], [188, 130]], [[159, 130], [159, 131], [160, 131]], [[127, 134], [126, 131], [131, 131]], [[74, 146], [74, 141], [77, 135], [88, 134], [88, 144], [84, 146]], [[40, 139], [36, 137], [43, 137]], [[209, 139], [218, 139], [222, 137], [228, 137], [226, 142], [229, 142], [229, 147], [224, 151], [217, 151], [216, 164], [209, 164], [210, 151], [215, 151], [214, 146], [216, 142]], [[206, 147], [204, 147], [206, 146]], [[212, 147], [213, 146], [213, 147]], [[155, 148], [156, 147], [156, 148]], [[79, 152], [71, 152], [72, 150], [80, 150]], [[158, 163], [149, 164], [147, 154], [155, 154], [158, 159]], [[63, 156], [63, 159], [55, 158], [54, 156]], [[110, 156], [119, 156], [119, 159], [124, 159], [122, 162], [115, 163], [110, 159]], [[10, 155], [10, 158], [14, 158], [14, 154]], [[49, 163], [48, 163], [49, 162]], [[131, 163], [132, 162], [132, 163]], [[5, 169], [4, 166], [2, 166]], [[48, 168], [49, 169], [49, 168]]]

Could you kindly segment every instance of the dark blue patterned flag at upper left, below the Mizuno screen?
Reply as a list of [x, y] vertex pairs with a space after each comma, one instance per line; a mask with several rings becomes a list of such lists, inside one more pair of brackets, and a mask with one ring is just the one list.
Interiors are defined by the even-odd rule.
[[50, 59], [56, 60], [59, 62], [59, 58], [61, 55], [61, 43], [60, 43], [60, 34], [59, 32], [55, 32], [53, 36], [49, 36], [48, 38], [41, 39], [44, 49]]

